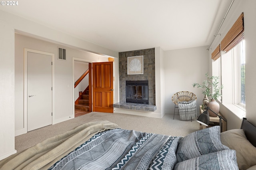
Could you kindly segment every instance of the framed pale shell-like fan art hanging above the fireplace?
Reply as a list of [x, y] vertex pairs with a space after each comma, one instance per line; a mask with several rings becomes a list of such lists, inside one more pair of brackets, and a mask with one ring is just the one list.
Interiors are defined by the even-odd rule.
[[143, 74], [143, 55], [127, 57], [127, 74]]

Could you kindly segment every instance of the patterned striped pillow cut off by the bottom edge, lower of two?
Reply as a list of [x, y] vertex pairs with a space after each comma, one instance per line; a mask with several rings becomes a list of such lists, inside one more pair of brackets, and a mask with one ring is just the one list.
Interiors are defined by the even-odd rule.
[[179, 162], [174, 170], [238, 170], [235, 150], [221, 150]]

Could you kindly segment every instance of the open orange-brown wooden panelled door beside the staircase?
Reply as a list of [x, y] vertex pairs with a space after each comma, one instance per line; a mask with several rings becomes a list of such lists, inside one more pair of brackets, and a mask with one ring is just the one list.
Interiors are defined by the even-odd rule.
[[92, 63], [93, 111], [113, 113], [113, 62]]

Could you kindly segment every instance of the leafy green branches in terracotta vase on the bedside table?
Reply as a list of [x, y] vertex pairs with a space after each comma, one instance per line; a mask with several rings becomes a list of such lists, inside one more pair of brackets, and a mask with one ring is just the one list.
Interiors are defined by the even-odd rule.
[[[223, 85], [219, 85], [218, 76], [210, 77], [208, 73], [206, 73], [205, 76], [206, 76], [206, 80], [204, 80], [202, 84], [193, 83], [192, 85], [193, 87], [204, 89], [202, 91], [202, 94], [204, 95], [202, 107], [204, 108], [205, 105], [207, 105], [208, 107], [210, 107], [212, 111], [218, 114], [220, 111], [220, 105], [218, 102], [216, 102], [216, 100], [218, 99], [218, 97], [222, 95], [221, 89], [223, 89]], [[212, 89], [212, 93], [211, 93], [211, 89]], [[207, 102], [208, 97], [211, 97], [211, 101], [209, 103]], [[209, 110], [209, 115], [212, 117], [216, 117], [217, 115], [212, 113], [212, 111]]]

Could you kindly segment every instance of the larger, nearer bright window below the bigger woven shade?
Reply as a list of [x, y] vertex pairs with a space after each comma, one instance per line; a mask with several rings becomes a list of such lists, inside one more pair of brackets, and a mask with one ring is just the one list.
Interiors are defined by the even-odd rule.
[[[223, 105], [234, 105], [242, 111], [232, 111], [239, 117], [245, 115], [245, 54], [244, 40], [238, 43], [227, 53], [221, 55], [221, 77], [224, 88], [222, 89]], [[229, 106], [232, 107], [232, 106]], [[230, 108], [229, 108], [230, 109]], [[232, 109], [230, 109], [232, 110]]]

